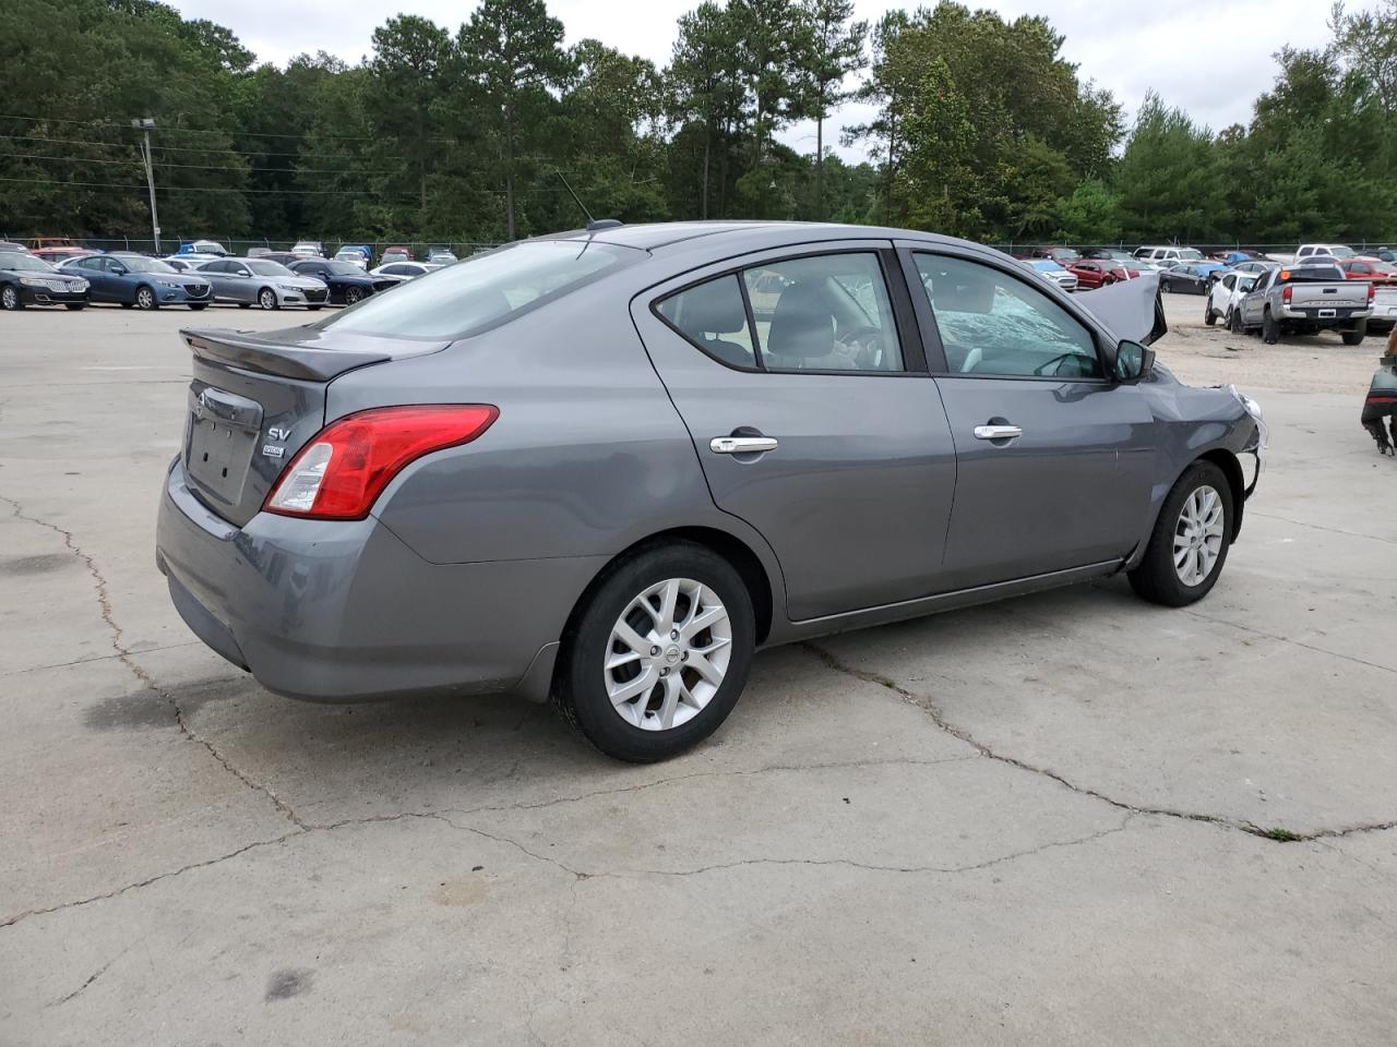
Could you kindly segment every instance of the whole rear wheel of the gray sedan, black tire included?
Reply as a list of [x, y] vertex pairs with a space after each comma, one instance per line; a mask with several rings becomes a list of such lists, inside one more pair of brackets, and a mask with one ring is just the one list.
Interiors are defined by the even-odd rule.
[[[686, 637], [686, 621], [692, 628], [715, 611], [711, 627]], [[627, 631], [640, 649], [622, 638]], [[606, 755], [630, 764], [668, 759], [728, 718], [754, 646], [752, 596], [732, 564], [694, 542], [643, 547], [608, 568], [574, 614], [553, 702]], [[705, 671], [694, 667], [700, 658]]]

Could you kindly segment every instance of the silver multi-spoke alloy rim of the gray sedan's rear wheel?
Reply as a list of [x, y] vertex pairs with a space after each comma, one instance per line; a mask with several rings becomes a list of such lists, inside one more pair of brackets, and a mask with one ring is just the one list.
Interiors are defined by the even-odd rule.
[[631, 599], [612, 627], [606, 694], [630, 726], [669, 730], [712, 701], [731, 658], [732, 621], [718, 593], [669, 578]]

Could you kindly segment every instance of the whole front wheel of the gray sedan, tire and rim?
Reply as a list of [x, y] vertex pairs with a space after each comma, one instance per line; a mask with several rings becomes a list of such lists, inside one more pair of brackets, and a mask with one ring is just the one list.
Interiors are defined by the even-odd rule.
[[1201, 600], [1227, 563], [1232, 512], [1232, 487], [1222, 469], [1204, 461], [1190, 465], [1160, 507], [1144, 556], [1127, 575], [1130, 588], [1165, 607]]

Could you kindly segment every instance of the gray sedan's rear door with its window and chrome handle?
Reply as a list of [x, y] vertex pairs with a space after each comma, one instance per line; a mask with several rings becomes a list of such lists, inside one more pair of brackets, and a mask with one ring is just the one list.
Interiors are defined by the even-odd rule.
[[940, 588], [956, 451], [895, 265], [887, 242], [803, 246], [631, 303], [714, 501], [771, 544], [796, 621]]

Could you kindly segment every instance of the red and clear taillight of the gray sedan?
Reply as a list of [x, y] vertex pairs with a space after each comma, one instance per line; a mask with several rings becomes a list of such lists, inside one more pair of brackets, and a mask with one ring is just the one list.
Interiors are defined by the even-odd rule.
[[471, 443], [499, 415], [488, 403], [422, 403], [346, 415], [291, 459], [263, 508], [285, 517], [363, 519], [405, 465]]

